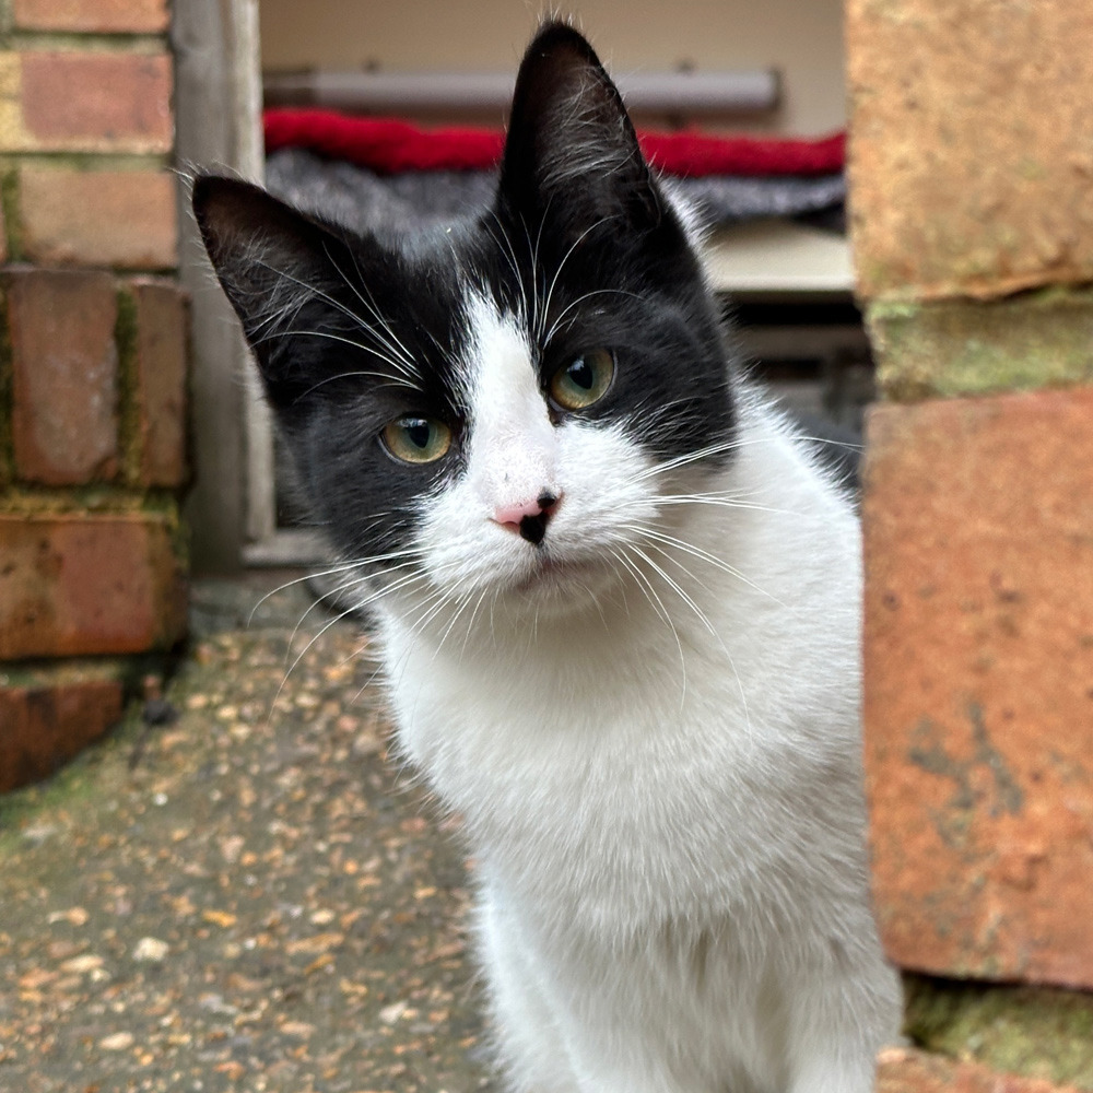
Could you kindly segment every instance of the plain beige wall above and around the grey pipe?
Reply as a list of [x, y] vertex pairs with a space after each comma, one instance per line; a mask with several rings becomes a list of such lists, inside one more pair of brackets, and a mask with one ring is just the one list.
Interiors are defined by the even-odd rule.
[[[545, 8], [526, 0], [260, 0], [262, 63], [515, 70]], [[776, 68], [784, 102], [763, 128], [815, 134], [845, 122], [841, 0], [575, 0], [563, 10], [614, 72]]]

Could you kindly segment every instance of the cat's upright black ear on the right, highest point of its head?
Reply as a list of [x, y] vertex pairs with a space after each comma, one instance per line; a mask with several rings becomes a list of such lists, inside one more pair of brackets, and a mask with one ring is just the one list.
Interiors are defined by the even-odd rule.
[[550, 209], [575, 226], [623, 218], [642, 228], [662, 218], [622, 96], [592, 47], [565, 23], [546, 24], [524, 56], [500, 195], [525, 218]]

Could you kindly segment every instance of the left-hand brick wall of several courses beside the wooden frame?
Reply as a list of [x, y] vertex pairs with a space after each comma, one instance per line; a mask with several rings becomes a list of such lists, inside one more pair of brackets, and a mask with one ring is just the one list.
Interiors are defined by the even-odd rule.
[[0, 0], [0, 791], [186, 623], [166, 0]]

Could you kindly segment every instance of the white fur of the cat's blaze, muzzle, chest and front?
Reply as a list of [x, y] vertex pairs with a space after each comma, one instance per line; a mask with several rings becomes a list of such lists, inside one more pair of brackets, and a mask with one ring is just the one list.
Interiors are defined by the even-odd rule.
[[[867, 1093], [900, 1002], [868, 904], [849, 503], [745, 391], [717, 472], [555, 427], [515, 322], [471, 314], [467, 472], [424, 514], [432, 590], [392, 593], [381, 639], [401, 748], [479, 861], [510, 1089]], [[490, 519], [543, 487], [546, 573]]]

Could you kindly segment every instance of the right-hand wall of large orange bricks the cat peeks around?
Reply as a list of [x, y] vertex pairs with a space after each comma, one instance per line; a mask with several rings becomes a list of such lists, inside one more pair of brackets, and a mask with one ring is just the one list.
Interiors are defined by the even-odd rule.
[[1093, 8], [850, 0], [847, 35], [874, 892], [932, 1051], [881, 1088], [1090, 1090]]

